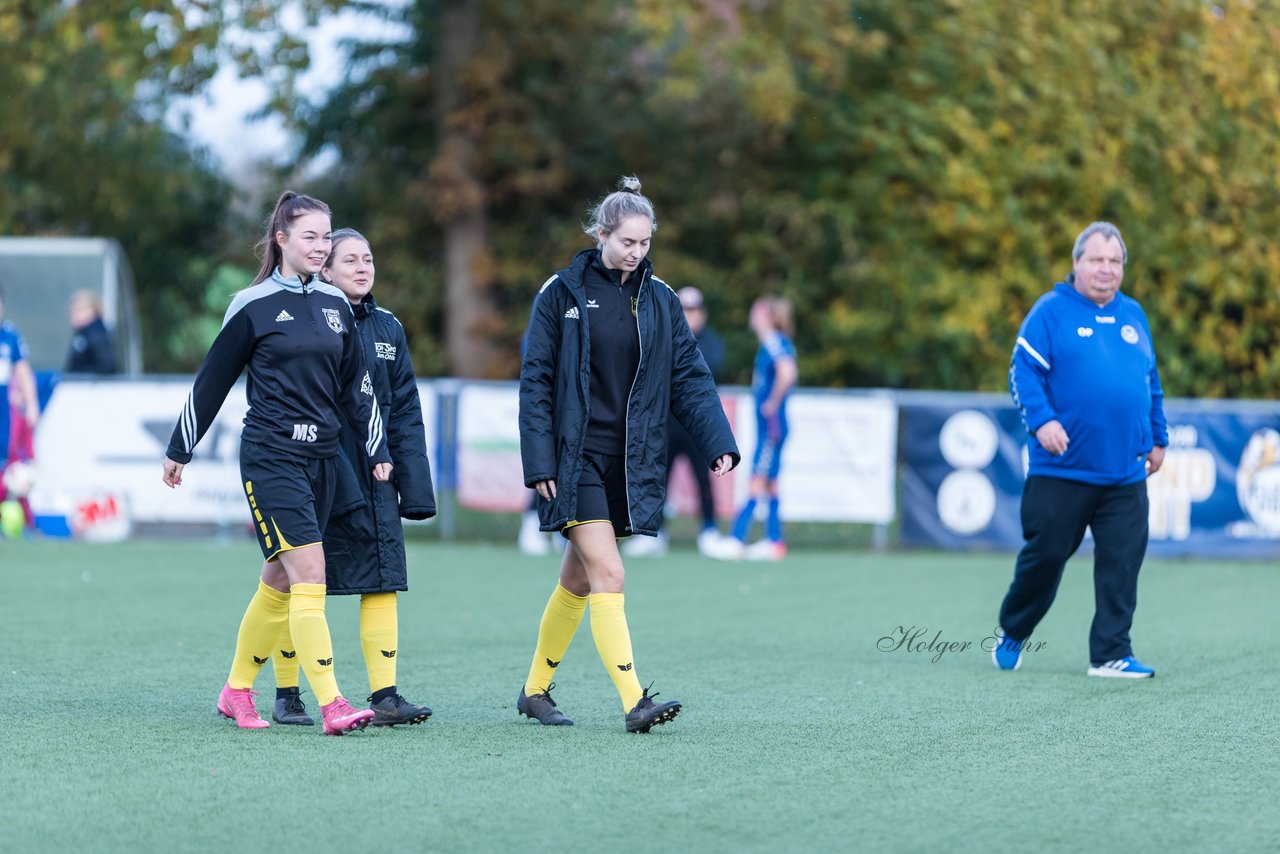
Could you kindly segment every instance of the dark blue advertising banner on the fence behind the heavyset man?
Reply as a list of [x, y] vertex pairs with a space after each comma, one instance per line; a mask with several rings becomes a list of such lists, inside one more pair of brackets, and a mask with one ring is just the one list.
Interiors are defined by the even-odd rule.
[[[904, 545], [1021, 548], [1030, 437], [997, 401], [902, 401]], [[1149, 553], [1280, 557], [1280, 405], [1167, 401], [1165, 415], [1169, 451], [1147, 481]]]

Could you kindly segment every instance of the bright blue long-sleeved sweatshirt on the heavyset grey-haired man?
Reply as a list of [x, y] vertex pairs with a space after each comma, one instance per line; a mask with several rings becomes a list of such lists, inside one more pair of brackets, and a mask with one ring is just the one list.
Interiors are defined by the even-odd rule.
[[1138, 483], [1147, 476], [1151, 448], [1169, 444], [1146, 312], [1124, 293], [1098, 307], [1075, 289], [1074, 275], [1053, 286], [1023, 320], [1009, 391], [1029, 433], [1056, 420], [1070, 439], [1061, 456], [1029, 442], [1029, 475]]

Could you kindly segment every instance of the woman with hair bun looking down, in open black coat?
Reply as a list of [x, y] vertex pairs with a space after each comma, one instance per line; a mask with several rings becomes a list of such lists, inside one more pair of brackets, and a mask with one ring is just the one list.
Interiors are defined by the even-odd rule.
[[538, 492], [541, 530], [568, 540], [516, 702], [520, 714], [543, 725], [573, 723], [552, 700], [552, 676], [589, 604], [627, 732], [648, 732], [680, 712], [680, 702], [657, 702], [640, 688], [618, 540], [658, 533], [668, 417], [692, 434], [717, 475], [740, 460], [680, 298], [653, 275], [646, 256], [657, 228], [639, 179], [623, 178], [582, 229], [595, 247], [543, 284], [529, 321], [520, 370], [525, 485]]

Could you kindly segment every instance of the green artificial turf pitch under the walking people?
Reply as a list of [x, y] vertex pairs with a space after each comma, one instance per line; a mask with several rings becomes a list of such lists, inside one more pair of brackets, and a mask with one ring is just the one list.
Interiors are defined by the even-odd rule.
[[[554, 558], [410, 547], [399, 686], [424, 726], [323, 737], [216, 717], [252, 543], [0, 543], [0, 850], [1275, 850], [1280, 568], [1149, 561], [1155, 680], [1088, 679], [1088, 558], [1015, 673], [979, 649], [1011, 556], [794, 553], [628, 563], [645, 736], [586, 621], [573, 727], [516, 717]], [[329, 599], [339, 684], [369, 685]], [[936, 652], [892, 647], [969, 643]], [[882, 638], [891, 638], [881, 641]], [[937, 647], [936, 647], [937, 648]], [[264, 713], [270, 667], [259, 680]], [[315, 698], [305, 690], [312, 712]]]

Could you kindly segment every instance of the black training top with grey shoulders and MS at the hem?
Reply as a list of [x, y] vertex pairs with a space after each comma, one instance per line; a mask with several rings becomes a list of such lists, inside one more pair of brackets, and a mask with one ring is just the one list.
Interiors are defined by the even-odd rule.
[[191, 462], [248, 366], [242, 439], [298, 457], [333, 457], [346, 414], [361, 425], [369, 458], [390, 462], [351, 321], [351, 303], [342, 291], [315, 278], [303, 282], [276, 270], [237, 293], [173, 429], [169, 458]]

